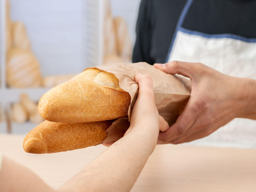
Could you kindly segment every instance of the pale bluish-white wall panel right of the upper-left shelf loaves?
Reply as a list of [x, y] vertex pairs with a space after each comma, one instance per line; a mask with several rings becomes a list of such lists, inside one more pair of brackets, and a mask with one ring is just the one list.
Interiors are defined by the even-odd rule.
[[81, 72], [82, 0], [10, 0], [12, 20], [25, 23], [42, 74]]

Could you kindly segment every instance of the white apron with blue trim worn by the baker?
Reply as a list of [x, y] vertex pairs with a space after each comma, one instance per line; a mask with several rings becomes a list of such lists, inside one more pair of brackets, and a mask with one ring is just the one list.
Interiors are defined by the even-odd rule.
[[[205, 34], [182, 27], [193, 0], [178, 20], [166, 62], [200, 62], [224, 74], [256, 79], [256, 38], [233, 34]], [[195, 145], [256, 148], [256, 121], [236, 118]]]

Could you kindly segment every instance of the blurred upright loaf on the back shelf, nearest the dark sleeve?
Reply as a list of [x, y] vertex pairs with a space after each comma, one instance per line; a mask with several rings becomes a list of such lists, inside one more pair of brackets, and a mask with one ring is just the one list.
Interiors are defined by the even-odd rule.
[[117, 54], [125, 62], [129, 62], [132, 59], [132, 40], [127, 24], [122, 17], [115, 17], [113, 22], [116, 34]]

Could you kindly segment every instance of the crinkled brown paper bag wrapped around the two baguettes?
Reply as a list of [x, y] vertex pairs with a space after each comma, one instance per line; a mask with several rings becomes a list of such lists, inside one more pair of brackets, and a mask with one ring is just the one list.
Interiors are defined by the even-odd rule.
[[148, 63], [110, 64], [97, 68], [115, 74], [119, 79], [119, 86], [131, 95], [129, 118], [117, 119], [106, 131], [108, 137], [104, 143], [120, 139], [130, 126], [132, 108], [138, 95], [139, 85], [135, 82], [138, 73], [148, 74], [153, 78], [156, 108], [170, 126], [175, 123], [190, 97], [191, 84], [187, 78], [166, 74]]

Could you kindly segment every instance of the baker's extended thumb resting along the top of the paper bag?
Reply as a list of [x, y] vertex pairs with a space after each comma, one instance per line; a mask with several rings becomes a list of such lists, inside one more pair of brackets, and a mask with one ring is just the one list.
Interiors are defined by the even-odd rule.
[[172, 75], [179, 74], [193, 79], [196, 74], [201, 71], [203, 64], [171, 61], [165, 64], [155, 63], [154, 67], [164, 71], [165, 73], [170, 73]]

